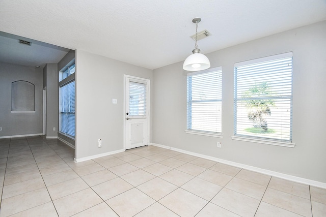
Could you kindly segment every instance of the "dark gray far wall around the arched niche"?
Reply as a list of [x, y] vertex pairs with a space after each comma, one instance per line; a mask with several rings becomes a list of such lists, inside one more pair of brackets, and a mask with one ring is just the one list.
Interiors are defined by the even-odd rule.
[[[35, 113], [11, 113], [11, 82], [25, 80], [35, 85]], [[42, 134], [42, 69], [0, 62], [0, 137]]]

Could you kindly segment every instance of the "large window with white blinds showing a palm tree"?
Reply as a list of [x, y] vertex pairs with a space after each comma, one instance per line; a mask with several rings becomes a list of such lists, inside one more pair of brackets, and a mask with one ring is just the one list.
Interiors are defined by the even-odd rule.
[[292, 141], [292, 52], [234, 65], [234, 135]]

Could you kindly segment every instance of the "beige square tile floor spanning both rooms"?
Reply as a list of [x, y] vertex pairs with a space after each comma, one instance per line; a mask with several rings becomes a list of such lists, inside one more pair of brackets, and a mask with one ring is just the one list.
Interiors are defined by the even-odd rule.
[[326, 190], [155, 146], [73, 163], [57, 139], [0, 139], [0, 216], [326, 216]]

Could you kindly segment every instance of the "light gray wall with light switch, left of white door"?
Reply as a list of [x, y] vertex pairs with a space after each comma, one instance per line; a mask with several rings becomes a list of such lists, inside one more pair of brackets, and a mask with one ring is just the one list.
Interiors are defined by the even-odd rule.
[[[83, 50], [75, 52], [75, 158], [121, 150], [124, 141], [124, 74], [152, 80], [153, 71]], [[113, 104], [112, 99], [117, 99], [118, 103]], [[151, 99], [152, 95], [150, 102]], [[102, 139], [100, 148], [98, 139]]]

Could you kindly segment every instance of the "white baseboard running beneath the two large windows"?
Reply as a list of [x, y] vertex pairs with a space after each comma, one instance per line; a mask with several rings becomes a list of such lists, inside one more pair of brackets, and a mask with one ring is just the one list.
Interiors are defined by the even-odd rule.
[[207, 159], [207, 160], [220, 162], [220, 163], [227, 164], [227, 165], [230, 165], [230, 166], [239, 167], [239, 168], [242, 168], [242, 169], [262, 173], [262, 174], [265, 174], [265, 175], [275, 176], [275, 177], [278, 177], [278, 178], [283, 178], [283, 179], [286, 179], [286, 180], [299, 182], [299, 183], [303, 183], [303, 184], [308, 184], [308, 185], [312, 185], [312, 186], [315, 186], [315, 187], [318, 187], [318, 188], [326, 189], [326, 183], [324, 183], [324, 182], [319, 182], [319, 181], [314, 181], [314, 180], [311, 180], [311, 179], [306, 179], [306, 178], [301, 178], [301, 177], [297, 177], [297, 176], [287, 175], [287, 174], [284, 174], [284, 173], [279, 173], [279, 172], [275, 172], [275, 171], [271, 171], [271, 170], [265, 170], [265, 169], [262, 169], [262, 168], [249, 166], [249, 165], [246, 165], [246, 164], [239, 164], [239, 163], [235, 163], [235, 162], [232, 162], [232, 161], [227, 161], [227, 160], [223, 160], [223, 159], [219, 159], [219, 158], [214, 158], [214, 157], [211, 157], [211, 156], [206, 156], [204, 154], [199, 154], [199, 153], [195, 153], [195, 152], [191, 152], [191, 151], [186, 151], [186, 150], [182, 150], [182, 149], [178, 149], [178, 148], [169, 147], [169, 146], [166, 146], [166, 145], [160, 145], [160, 144], [156, 144], [156, 143], [151, 143], [151, 145], [161, 147], [161, 148], [171, 149], [171, 150], [174, 150], [174, 151], [189, 154], [189, 155], [196, 156], [196, 157], [199, 157], [199, 158], [204, 158], [204, 159]]

